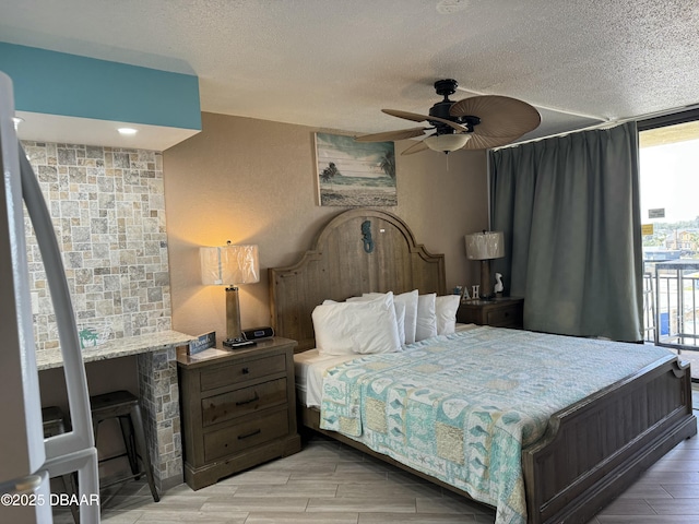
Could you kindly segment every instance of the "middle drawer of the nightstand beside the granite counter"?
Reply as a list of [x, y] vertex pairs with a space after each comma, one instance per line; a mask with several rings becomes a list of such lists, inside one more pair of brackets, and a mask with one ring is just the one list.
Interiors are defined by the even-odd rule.
[[206, 427], [223, 422], [285, 402], [286, 379], [251, 385], [202, 400], [202, 425]]

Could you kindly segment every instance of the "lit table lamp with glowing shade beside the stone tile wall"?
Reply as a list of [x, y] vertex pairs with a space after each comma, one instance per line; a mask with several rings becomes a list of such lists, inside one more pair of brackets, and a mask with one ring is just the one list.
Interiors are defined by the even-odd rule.
[[260, 282], [257, 246], [233, 246], [200, 248], [201, 281], [204, 285], [226, 286], [226, 340], [227, 347], [252, 346], [240, 329], [240, 302], [238, 284]]

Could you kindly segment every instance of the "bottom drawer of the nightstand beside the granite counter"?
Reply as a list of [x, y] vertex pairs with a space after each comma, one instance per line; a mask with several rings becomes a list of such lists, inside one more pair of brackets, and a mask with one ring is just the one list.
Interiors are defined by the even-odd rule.
[[204, 460], [213, 461], [288, 433], [286, 406], [268, 415], [204, 434]]

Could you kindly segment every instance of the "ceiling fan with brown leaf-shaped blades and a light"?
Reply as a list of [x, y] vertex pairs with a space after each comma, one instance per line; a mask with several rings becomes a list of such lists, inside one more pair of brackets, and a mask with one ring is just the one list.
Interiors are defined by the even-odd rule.
[[429, 115], [381, 109], [393, 117], [428, 122], [429, 128], [411, 128], [356, 136], [358, 142], [388, 142], [422, 136], [435, 131], [402, 154], [410, 155], [427, 148], [449, 154], [457, 150], [485, 150], [514, 142], [536, 129], [542, 121], [538, 111], [525, 102], [509, 96], [482, 95], [454, 102], [449, 95], [457, 92], [455, 80], [435, 82], [435, 91], [445, 98], [429, 109]]

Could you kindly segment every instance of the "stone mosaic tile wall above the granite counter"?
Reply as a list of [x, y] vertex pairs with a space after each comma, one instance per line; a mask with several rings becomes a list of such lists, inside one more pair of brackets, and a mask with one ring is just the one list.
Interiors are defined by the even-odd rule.
[[[23, 142], [63, 253], [85, 346], [171, 329], [162, 155]], [[27, 257], [38, 350], [58, 347], [31, 223]], [[84, 335], [84, 336], [83, 336]]]

